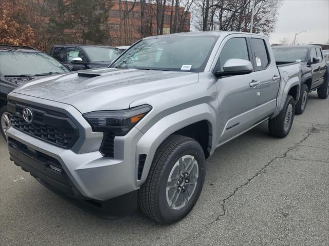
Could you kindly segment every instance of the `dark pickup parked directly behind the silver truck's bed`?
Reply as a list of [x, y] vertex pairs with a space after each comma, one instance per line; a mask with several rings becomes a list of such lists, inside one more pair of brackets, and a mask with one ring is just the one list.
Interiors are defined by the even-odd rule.
[[293, 45], [272, 47], [277, 64], [301, 63], [301, 93], [296, 104], [296, 114], [302, 114], [306, 108], [308, 93], [317, 90], [318, 97], [325, 99], [329, 95], [326, 76], [326, 62], [322, 49], [317, 45]]

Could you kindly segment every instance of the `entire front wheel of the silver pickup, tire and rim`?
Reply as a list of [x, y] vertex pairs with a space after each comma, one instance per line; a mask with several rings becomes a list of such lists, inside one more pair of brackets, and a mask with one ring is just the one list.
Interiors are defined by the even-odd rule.
[[205, 155], [198, 142], [180, 135], [168, 137], [139, 189], [141, 211], [163, 224], [184, 218], [198, 200], [205, 176]]

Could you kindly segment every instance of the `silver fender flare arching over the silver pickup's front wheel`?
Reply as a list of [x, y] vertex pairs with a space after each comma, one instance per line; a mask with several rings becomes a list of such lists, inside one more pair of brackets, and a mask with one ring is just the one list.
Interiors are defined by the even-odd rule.
[[[210, 122], [211, 131], [209, 131], [209, 136], [211, 137], [211, 153], [214, 151], [216, 146], [216, 119], [214, 117], [216, 112], [213, 108], [209, 107], [207, 104], [195, 105], [190, 108], [182, 109], [178, 112], [169, 114], [159, 121], [156, 122], [143, 136], [139, 139], [136, 147], [135, 156], [135, 183], [136, 187], [142, 185], [142, 183], [147, 179], [149, 171], [152, 165], [152, 161], [156, 150], [160, 144], [171, 134], [187, 127], [195, 122], [207, 120]], [[147, 158], [144, 162], [144, 167], [140, 180], [137, 180], [138, 172], [138, 160], [139, 155], [146, 154]]]

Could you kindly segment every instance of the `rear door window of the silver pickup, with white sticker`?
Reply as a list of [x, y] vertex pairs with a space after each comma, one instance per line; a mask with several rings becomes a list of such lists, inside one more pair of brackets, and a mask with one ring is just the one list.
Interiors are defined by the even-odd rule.
[[255, 71], [265, 69], [269, 64], [265, 40], [262, 38], [251, 38], [251, 47], [253, 51]]

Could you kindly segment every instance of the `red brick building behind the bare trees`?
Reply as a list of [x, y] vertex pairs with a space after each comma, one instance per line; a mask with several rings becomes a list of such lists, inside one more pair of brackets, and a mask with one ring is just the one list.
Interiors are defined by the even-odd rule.
[[[179, 14], [176, 16], [175, 7], [166, 6], [165, 8], [163, 34], [190, 31], [190, 12], [184, 11], [184, 7], [179, 7]], [[108, 43], [113, 46], [132, 45], [141, 38], [141, 29], [143, 29], [143, 36], [157, 35], [156, 4], [146, 3], [144, 9], [142, 26], [140, 2], [114, 1], [109, 11], [110, 39]], [[175, 25], [175, 23], [178, 24]]]

